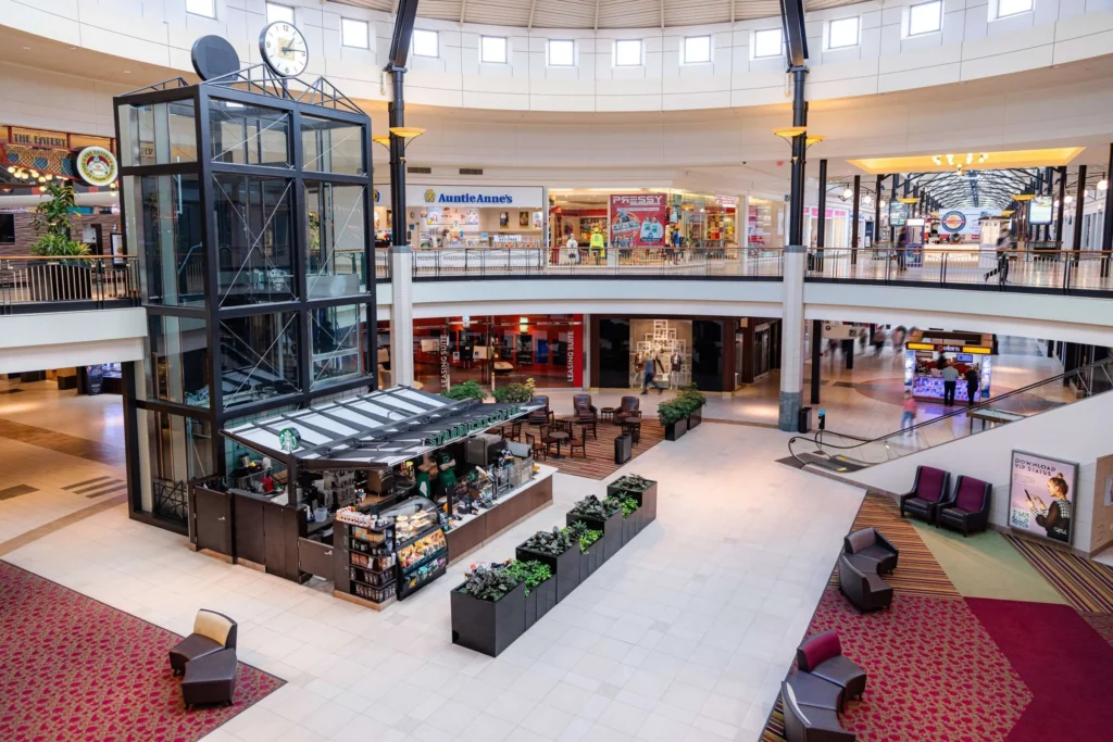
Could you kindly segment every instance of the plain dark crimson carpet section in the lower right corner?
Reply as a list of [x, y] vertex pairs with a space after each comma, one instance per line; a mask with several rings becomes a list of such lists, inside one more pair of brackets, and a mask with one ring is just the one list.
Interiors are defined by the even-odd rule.
[[1008, 742], [1113, 739], [1113, 647], [1068, 605], [966, 603], [1035, 693]]

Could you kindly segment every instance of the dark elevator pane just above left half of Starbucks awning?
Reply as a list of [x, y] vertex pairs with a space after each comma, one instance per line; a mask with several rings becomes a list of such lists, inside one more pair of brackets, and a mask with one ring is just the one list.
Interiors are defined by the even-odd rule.
[[226, 409], [302, 389], [297, 313], [220, 320], [220, 383]]

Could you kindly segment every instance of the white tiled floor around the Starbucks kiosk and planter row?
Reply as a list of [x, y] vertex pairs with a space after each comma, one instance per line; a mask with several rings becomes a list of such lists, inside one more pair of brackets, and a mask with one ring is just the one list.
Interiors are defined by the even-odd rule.
[[[450, 642], [462, 565], [376, 613], [189, 552], [122, 506], [6, 558], [171, 631], [200, 606], [236, 617], [242, 659], [288, 684], [214, 742], [754, 740], [861, 499], [774, 463], [786, 439], [705, 424], [626, 467], [660, 481], [658, 521], [496, 660]], [[474, 558], [511, 556], [604, 485], [554, 489]]]

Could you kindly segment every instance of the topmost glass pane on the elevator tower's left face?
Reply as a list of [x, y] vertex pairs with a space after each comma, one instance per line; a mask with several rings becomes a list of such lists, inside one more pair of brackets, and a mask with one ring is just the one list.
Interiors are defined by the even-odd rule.
[[197, 129], [191, 100], [121, 106], [120, 165], [197, 161]]

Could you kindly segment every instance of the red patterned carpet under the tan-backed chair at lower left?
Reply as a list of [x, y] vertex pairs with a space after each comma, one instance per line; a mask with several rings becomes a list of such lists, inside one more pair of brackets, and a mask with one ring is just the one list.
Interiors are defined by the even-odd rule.
[[0, 561], [0, 740], [191, 742], [283, 684], [240, 663], [235, 705], [187, 712], [179, 640]]

